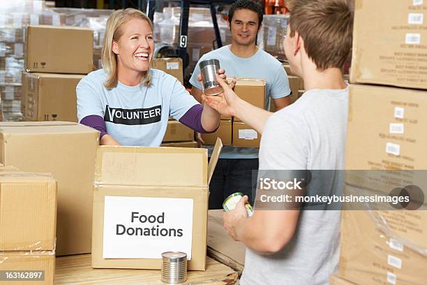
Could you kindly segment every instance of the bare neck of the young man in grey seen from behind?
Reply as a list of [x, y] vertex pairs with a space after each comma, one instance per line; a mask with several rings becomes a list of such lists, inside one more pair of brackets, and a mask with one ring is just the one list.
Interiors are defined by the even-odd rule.
[[340, 68], [327, 68], [320, 72], [315, 68], [303, 68], [304, 89], [345, 89], [347, 84]]

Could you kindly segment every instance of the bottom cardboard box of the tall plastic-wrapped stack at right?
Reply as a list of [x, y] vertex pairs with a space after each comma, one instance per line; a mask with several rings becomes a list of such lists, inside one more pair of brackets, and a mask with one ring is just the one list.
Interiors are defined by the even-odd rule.
[[[403, 211], [391, 212], [398, 216]], [[424, 238], [427, 239], [427, 235]], [[421, 285], [426, 284], [426, 264], [427, 256], [384, 234], [367, 211], [343, 212], [340, 277], [356, 284]]]

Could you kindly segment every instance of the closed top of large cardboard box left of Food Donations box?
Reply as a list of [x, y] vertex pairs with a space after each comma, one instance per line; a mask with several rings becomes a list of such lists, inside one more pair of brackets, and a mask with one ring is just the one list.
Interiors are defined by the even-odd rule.
[[82, 124], [61, 121], [46, 122], [0, 122], [0, 133], [4, 135], [45, 133], [98, 133]]

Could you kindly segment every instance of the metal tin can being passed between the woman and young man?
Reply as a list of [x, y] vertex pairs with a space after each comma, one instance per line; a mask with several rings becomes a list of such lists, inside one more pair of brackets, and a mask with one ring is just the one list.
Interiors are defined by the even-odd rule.
[[220, 69], [218, 59], [207, 59], [199, 64], [200, 74], [202, 75], [202, 92], [205, 95], [216, 96], [223, 92], [223, 87], [220, 87], [216, 75]]

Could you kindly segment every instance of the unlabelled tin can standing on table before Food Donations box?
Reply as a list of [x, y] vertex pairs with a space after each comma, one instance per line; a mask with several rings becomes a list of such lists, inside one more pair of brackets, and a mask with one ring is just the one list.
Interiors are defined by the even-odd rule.
[[187, 279], [187, 254], [167, 251], [162, 254], [162, 282], [179, 284]]

